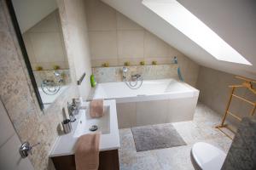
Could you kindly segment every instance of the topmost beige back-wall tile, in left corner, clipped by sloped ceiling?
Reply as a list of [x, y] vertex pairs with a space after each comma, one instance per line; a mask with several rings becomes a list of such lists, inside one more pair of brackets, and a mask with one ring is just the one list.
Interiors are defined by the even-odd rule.
[[116, 30], [116, 12], [100, 0], [86, 0], [89, 31]]

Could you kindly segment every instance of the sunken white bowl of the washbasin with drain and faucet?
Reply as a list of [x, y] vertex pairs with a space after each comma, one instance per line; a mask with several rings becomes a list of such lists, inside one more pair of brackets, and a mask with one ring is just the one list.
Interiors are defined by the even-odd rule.
[[[77, 128], [73, 133], [74, 138], [78, 138], [79, 136], [86, 134], [86, 133], [96, 133], [100, 132], [102, 134], [110, 133], [110, 109], [109, 105], [104, 106], [104, 114], [102, 117], [99, 118], [91, 118], [90, 117], [90, 109], [85, 111], [84, 115], [81, 115]], [[94, 132], [90, 131], [90, 127], [96, 125], [98, 129]]]

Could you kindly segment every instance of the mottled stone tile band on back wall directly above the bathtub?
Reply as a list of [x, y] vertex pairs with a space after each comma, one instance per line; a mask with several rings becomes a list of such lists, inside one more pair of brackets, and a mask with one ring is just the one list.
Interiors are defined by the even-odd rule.
[[[171, 65], [131, 65], [128, 68], [127, 77], [131, 75], [140, 74], [143, 80], [155, 80], [173, 78], [178, 80], [176, 64]], [[122, 82], [123, 81], [123, 67], [94, 67], [92, 72], [96, 77], [96, 82]]]

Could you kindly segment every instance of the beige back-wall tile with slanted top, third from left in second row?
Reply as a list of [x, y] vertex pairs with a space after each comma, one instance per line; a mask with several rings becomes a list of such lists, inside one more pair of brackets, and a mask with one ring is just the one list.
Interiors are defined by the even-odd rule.
[[169, 56], [169, 45], [154, 36], [150, 32], [145, 32], [145, 58], [162, 58]]

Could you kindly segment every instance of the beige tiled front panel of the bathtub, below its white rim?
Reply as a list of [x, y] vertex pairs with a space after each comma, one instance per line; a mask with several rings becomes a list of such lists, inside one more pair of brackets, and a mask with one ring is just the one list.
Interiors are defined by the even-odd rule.
[[119, 128], [191, 121], [197, 98], [118, 103]]

